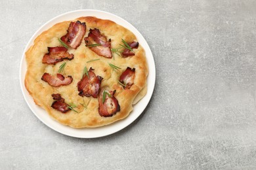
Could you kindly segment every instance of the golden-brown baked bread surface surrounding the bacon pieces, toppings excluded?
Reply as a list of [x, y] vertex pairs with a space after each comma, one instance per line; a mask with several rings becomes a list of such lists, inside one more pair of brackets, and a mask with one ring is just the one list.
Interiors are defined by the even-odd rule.
[[[110, 20], [101, 20], [95, 17], [81, 17], [74, 21], [79, 20], [85, 22], [87, 25], [85, 37], [89, 33], [89, 29], [98, 28], [102, 35], [105, 35], [108, 39], [111, 39], [112, 48], [117, 48], [121, 44], [121, 39], [125, 39], [127, 42], [137, 41], [135, 35], [128, 29], [125, 29], [121, 25], [117, 25]], [[81, 45], [76, 49], [68, 49], [68, 52], [74, 54], [74, 59], [66, 61], [66, 67], [64, 69], [64, 76], [71, 75], [74, 80], [68, 86], [60, 86], [54, 88], [43, 82], [41, 76], [43, 73], [56, 74], [58, 67], [65, 61], [56, 63], [56, 65], [47, 65], [42, 63], [42, 58], [47, 53], [48, 46], [60, 46], [58, 38], [66, 34], [66, 30], [71, 21], [61, 22], [53, 25], [47, 31], [44, 31], [39, 35], [33, 46], [26, 52], [26, 61], [28, 63], [28, 71], [25, 78], [25, 86], [32, 95], [35, 103], [47, 112], [61, 124], [81, 128], [81, 127], [98, 127], [104, 126], [121, 120], [129, 115], [133, 110], [133, 103], [137, 103], [146, 94], [146, 77], [148, 75], [148, 65], [146, 63], [146, 56], [144, 49], [139, 45], [135, 50], [135, 56], [121, 58], [114, 54], [115, 59], [108, 59], [100, 57], [92, 50], [85, 46], [85, 42], [82, 41]], [[91, 59], [100, 60], [87, 63]], [[112, 63], [121, 67], [121, 69], [114, 71], [108, 63]], [[95, 69], [95, 74], [102, 76], [103, 80], [101, 88], [109, 88], [116, 90], [115, 97], [119, 101], [121, 110], [112, 117], [102, 117], [98, 114], [98, 99], [93, 97], [81, 97], [78, 95], [77, 82], [81, 80], [83, 68], [92, 67]], [[133, 86], [130, 89], [124, 90], [123, 87], [117, 82], [119, 76], [127, 67], [135, 68], [135, 80]], [[66, 103], [74, 103], [77, 105], [74, 112], [73, 110], [62, 114], [58, 110], [51, 108], [53, 98], [51, 94], [60, 93], [65, 99]], [[87, 109], [79, 103], [85, 103]]]

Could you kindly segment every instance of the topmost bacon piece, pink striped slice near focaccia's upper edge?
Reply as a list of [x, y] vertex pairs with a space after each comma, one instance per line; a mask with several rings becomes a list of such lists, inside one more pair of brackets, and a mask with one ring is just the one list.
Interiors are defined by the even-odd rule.
[[85, 22], [71, 22], [70, 27], [68, 27], [68, 33], [60, 39], [68, 46], [76, 49], [81, 44], [83, 35], [85, 35], [85, 29]]

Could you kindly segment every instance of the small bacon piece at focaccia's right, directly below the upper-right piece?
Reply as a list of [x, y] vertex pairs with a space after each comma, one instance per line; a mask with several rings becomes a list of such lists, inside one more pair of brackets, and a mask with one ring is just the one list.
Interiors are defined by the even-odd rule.
[[125, 86], [123, 86], [124, 89], [130, 89], [131, 86], [133, 86], [134, 78], [135, 68], [131, 69], [130, 67], [127, 67], [127, 69], [121, 74], [119, 82], [125, 84]]

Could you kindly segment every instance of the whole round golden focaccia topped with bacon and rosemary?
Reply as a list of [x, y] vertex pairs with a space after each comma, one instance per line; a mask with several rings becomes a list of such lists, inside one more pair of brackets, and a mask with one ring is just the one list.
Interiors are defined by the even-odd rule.
[[110, 20], [87, 16], [55, 24], [35, 39], [26, 61], [26, 89], [66, 126], [111, 124], [146, 94], [144, 49]]

